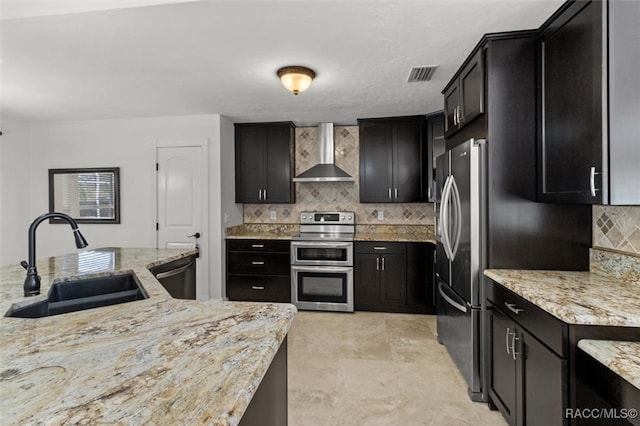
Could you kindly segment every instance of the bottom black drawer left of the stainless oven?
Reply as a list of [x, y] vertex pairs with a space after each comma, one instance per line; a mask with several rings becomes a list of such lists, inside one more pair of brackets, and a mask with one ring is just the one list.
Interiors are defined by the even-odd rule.
[[227, 275], [227, 297], [235, 301], [291, 303], [291, 278]]

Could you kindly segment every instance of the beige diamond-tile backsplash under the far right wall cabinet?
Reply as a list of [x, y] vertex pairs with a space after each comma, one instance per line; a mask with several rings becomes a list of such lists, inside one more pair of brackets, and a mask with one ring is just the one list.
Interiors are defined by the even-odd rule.
[[640, 255], [640, 206], [593, 206], [593, 247]]

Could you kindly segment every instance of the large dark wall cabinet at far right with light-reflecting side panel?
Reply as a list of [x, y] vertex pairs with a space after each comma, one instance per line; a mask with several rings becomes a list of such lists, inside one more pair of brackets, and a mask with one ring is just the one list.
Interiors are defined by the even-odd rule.
[[538, 37], [538, 200], [640, 204], [640, 2], [567, 2]]

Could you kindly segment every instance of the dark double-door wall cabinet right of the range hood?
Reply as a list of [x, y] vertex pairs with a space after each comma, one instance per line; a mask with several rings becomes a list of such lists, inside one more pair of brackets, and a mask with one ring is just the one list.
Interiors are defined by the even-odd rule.
[[424, 116], [358, 120], [360, 202], [427, 201]]

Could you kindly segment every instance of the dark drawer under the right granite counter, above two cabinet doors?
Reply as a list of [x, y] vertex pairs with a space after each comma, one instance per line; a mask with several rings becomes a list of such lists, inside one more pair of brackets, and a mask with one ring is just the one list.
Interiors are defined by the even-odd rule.
[[487, 299], [558, 355], [567, 356], [565, 323], [500, 284], [492, 280], [487, 283]]

